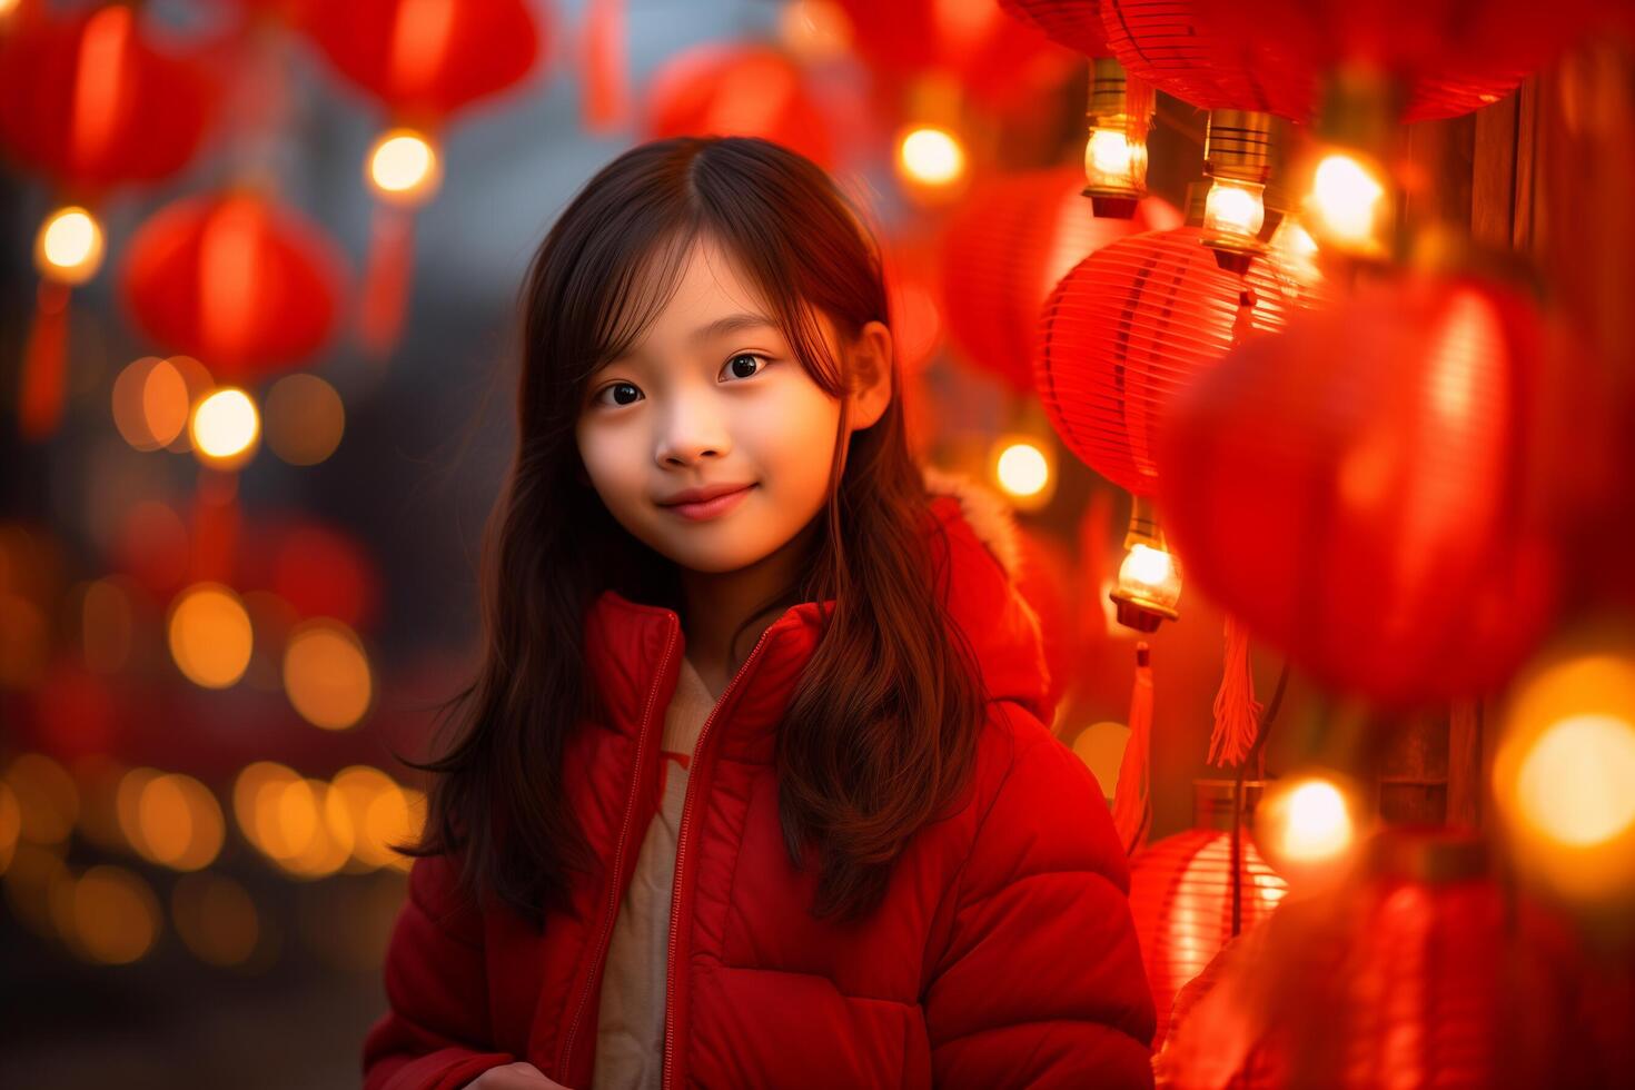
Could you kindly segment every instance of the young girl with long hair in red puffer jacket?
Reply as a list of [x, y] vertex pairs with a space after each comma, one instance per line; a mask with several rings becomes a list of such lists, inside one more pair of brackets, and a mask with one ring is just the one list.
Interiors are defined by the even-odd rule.
[[366, 1085], [1135, 1087], [1127, 869], [1002, 510], [916, 469], [878, 252], [764, 141], [626, 152], [517, 459]]

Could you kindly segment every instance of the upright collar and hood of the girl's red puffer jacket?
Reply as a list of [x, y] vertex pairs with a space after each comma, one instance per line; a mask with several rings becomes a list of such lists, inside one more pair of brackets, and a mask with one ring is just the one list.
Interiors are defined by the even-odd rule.
[[[989, 699], [1010, 699], [1050, 724], [1048, 675], [1038, 621], [1015, 585], [1015, 526], [1004, 503], [968, 480], [927, 474], [932, 492], [932, 557], [948, 614], [971, 644]], [[724, 755], [772, 758], [772, 727], [822, 634], [824, 606], [791, 606], [762, 634], [713, 713], [726, 734]], [[585, 623], [585, 660], [608, 722], [636, 735], [662, 717], [675, 691], [683, 652], [674, 610], [603, 592]]]

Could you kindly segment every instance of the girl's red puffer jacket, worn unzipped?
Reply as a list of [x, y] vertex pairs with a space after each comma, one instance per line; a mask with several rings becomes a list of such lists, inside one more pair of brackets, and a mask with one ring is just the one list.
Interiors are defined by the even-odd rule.
[[[938, 497], [932, 510], [948, 529], [948, 608], [992, 701], [968, 799], [911, 838], [868, 920], [814, 920], [816, 876], [790, 864], [778, 832], [772, 744], [819, 634], [816, 606], [775, 621], [721, 695], [688, 773], [665, 1087], [1153, 1082], [1125, 860], [1095, 781], [1041, 724], [1051, 708], [1037, 623], [968, 521], [992, 521], [983, 505]], [[572, 912], [535, 933], [507, 909], [464, 902], [446, 858], [417, 860], [386, 961], [391, 1010], [363, 1048], [371, 1090], [451, 1090], [513, 1061], [590, 1085], [613, 915], [657, 807], [680, 624], [605, 593], [587, 652], [611, 722], [571, 744], [582, 775], [569, 794], [600, 871], [574, 891]]]

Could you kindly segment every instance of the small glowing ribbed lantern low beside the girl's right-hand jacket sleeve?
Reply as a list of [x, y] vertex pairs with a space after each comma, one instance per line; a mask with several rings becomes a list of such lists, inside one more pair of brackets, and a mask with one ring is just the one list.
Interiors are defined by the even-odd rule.
[[[1288, 884], [1267, 866], [1243, 830], [1241, 930], [1272, 915]], [[1233, 936], [1231, 833], [1190, 829], [1151, 845], [1130, 861], [1130, 912], [1141, 963], [1158, 1008], [1156, 1044], [1169, 1028], [1169, 1008], [1192, 977]]]

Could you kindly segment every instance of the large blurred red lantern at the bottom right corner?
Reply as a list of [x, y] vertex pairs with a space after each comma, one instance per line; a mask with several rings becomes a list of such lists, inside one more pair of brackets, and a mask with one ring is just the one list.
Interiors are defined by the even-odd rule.
[[1588, 1023], [1620, 1008], [1628, 1033], [1627, 989], [1586, 1003], [1583, 953], [1512, 902], [1475, 835], [1440, 829], [1380, 833], [1354, 882], [1290, 897], [1207, 977], [1176, 1003], [1159, 1085], [1614, 1085]]

